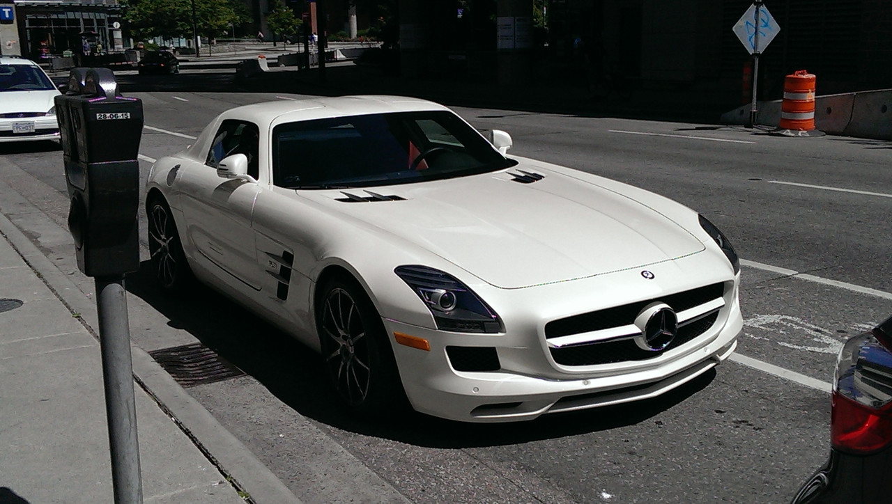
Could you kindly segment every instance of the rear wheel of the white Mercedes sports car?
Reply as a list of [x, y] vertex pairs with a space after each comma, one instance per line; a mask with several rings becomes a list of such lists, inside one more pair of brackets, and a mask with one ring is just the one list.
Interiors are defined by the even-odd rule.
[[166, 292], [180, 292], [192, 280], [192, 270], [186, 262], [170, 207], [164, 199], [156, 197], [146, 205], [146, 215], [149, 220], [150, 263], [155, 280]]

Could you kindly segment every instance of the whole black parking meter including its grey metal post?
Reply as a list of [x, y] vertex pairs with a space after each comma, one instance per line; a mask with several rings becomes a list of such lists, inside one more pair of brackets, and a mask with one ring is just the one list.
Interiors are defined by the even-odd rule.
[[116, 504], [141, 504], [133, 360], [124, 274], [139, 270], [139, 140], [143, 103], [121, 96], [110, 69], [72, 69], [54, 98], [78, 269], [95, 278], [105, 411]]

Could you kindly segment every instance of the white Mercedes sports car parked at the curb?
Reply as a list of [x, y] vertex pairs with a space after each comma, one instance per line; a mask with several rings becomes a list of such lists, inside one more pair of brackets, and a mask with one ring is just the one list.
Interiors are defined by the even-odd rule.
[[156, 276], [194, 273], [317, 349], [359, 413], [534, 419], [734, 351], [739, 261], [713, 224], [510, 146], [414, 98], [227, 110], [149, 173]]

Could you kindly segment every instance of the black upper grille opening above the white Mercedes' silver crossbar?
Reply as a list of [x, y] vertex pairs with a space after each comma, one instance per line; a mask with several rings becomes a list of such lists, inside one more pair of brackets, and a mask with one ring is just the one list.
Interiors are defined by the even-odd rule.
[[569, 336], [571, 334], [632, 324], [635, 321], [635, 317], [641, 313], [641, 310], [654, 301], [662, 301], [669, 305], [675, 313], [679, 313], [694, 306], [703, 305], [717, 297], [722, 297], [723, 294], [724, 284], [714, 283], [713, 285], [686, 290], [658, 299], [648, 299], [597, 312], [582, 313], [545, 324], [545, 337], [551, 339], [552, 337]]

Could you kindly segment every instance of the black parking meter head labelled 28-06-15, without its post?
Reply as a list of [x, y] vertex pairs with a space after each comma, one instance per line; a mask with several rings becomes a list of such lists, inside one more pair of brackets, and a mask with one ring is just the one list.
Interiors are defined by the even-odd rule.
[[143, 103], [120, 95], [110, 69], [78, 68], [55, 106], [78, 268], [92, 277], [136, 272]]

